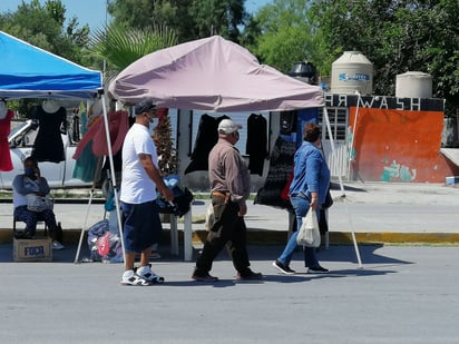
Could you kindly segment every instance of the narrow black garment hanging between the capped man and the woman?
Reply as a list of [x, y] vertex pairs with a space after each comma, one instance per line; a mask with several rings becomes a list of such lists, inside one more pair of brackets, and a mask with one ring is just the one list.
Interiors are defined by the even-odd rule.
[[263, 175], [264, 160], [267, 153], [267, 121], [262, 115], [252, 114], [247, 118], [247, 142], [245, 153], [248, 155], [251, 175]]

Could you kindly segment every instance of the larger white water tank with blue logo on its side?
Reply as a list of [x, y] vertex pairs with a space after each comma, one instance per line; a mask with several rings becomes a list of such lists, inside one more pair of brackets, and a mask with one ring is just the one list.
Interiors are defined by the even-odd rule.
[[373, 92], [373, 63], [360, 51], [344, 51], [332, 63], [332, 94]]

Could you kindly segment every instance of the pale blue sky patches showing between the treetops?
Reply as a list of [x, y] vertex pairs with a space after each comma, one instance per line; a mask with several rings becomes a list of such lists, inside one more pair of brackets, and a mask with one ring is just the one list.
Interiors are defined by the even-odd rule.
[[[23, 1], [30, 2], [30, 0]], [[40, 0], [40, 2], [45, 3], [46, 0]], [[61, 0], [61, 2], [67, 9], [67, 18], [77, 17], [80, 26], [87, 23], [91, 31], [102, 27], [106, 21], [106, 0]], [[272, 0], [246, 0], [245, 8], [248, 13], [253, 13], [271, 2]], [[21, 0], [0, 0], [0, 12], [14, 12], [21, 3]]]

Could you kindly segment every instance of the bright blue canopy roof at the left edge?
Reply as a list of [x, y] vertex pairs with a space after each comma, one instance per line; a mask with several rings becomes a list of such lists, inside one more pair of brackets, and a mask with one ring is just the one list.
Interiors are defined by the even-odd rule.
[[102, 76], [0, 31], [0, 98], [94, 98]]

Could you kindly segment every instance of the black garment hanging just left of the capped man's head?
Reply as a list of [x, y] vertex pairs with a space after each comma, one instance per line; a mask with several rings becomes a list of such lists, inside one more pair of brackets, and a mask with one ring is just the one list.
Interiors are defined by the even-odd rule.
[[227, 116], [212, 117], [207, 114], [201, 116], [197, 129], [195, 148], [192, 153], [192, 161], [185, 169], [185, 175], [195, 170], [208, 170], [208, 154], [218, 140], [218, 125]]

